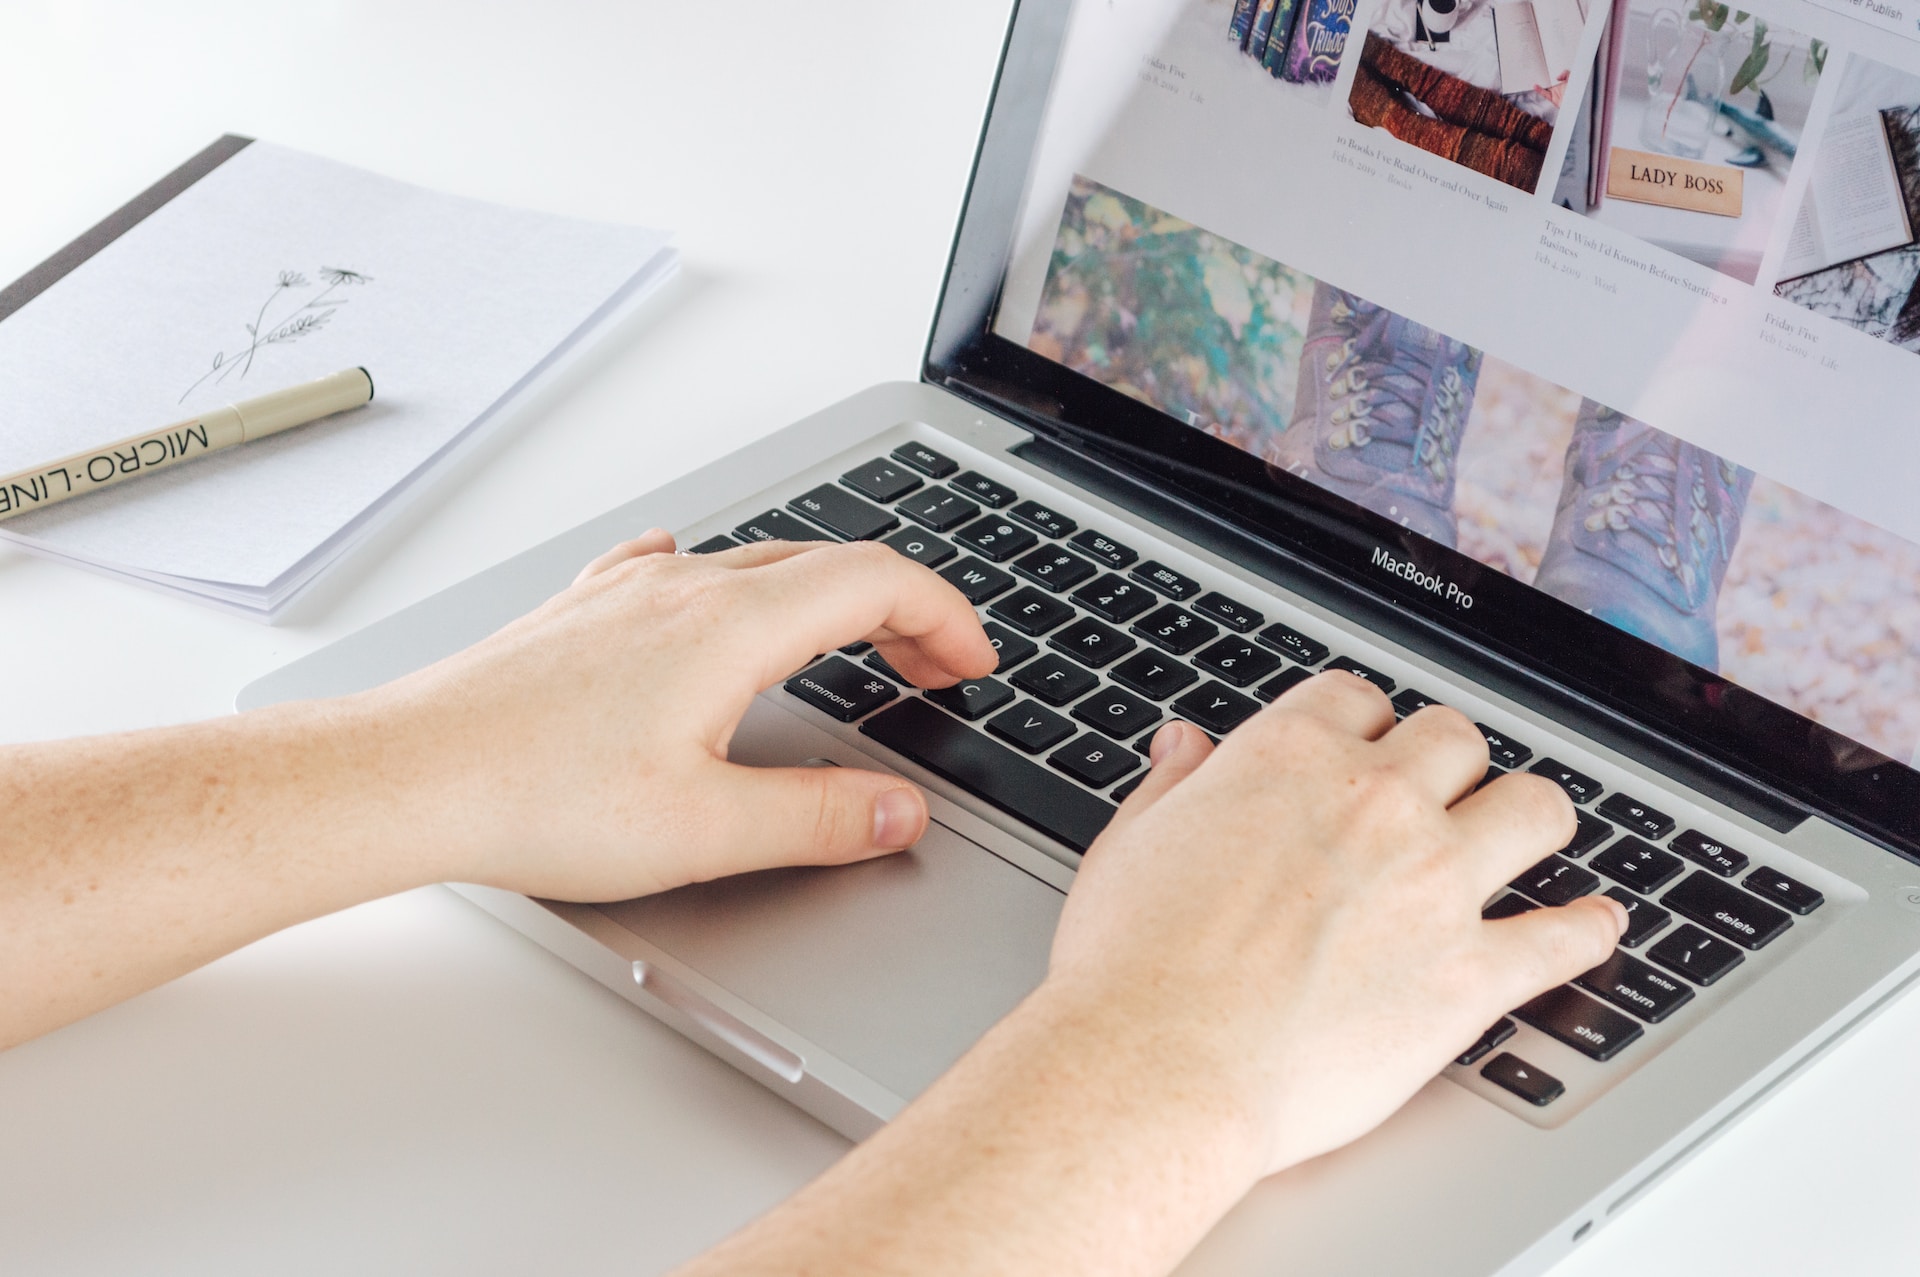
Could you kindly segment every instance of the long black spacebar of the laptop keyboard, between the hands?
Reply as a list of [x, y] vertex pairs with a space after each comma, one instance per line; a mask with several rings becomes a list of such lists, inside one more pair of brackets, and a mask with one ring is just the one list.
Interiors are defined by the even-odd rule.
[[860, 730], [1073, 851], [1087, 851], [1114, 818], [1112, 803], [960, 726], [920, 697], [874, 714]]

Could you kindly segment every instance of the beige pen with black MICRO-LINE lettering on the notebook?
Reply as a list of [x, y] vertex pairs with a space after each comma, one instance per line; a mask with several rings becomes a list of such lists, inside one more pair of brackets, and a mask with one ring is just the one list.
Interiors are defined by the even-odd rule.
[[292, 430], [369, 399], [372, 399], [372, 374], [367, 369], [346, 369], [257, 399], [228, 403], [159, 430], [88, 447], [19, 474], [0, 476], [0, 518], [60, 505], [67, 497], [111, 488], [136, 474], [165, 470], [234, 444]]

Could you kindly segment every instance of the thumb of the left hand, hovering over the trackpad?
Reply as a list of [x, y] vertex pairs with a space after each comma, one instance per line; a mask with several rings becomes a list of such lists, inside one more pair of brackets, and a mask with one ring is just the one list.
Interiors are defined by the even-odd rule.
[[918, 785], [851, 766], [758, 768], [714, 762], [701, 879], [781, 864], [847, 864], [902, 851], [927, 831]]

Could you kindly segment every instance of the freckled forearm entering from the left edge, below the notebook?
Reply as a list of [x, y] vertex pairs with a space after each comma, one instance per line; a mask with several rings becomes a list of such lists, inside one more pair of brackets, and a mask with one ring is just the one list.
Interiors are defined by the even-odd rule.
[[0, 751], [0, 1048], [438, 876], [365, 701]]

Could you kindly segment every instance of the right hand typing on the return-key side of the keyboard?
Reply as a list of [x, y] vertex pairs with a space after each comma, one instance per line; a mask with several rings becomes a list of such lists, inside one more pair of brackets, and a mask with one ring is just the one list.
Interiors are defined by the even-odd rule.
[[1574, 831], [1544, 778], [1475, 791], [1486, 764], [1459, 712], [1396, 726], [1377, 687], [1340, 672], [1217, 749], [1162, 728], [1152, 774], [1081, 864], [1044, 993], [1096, 1025], [1108, 1058], [1208, 1077], [1200, 1091], [1236, 1106], [1254, 1177], [1357, 1139], [1626, 928], [1605, 897], [1480, 918]]

